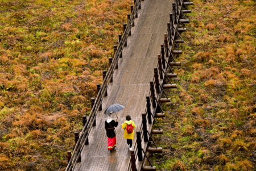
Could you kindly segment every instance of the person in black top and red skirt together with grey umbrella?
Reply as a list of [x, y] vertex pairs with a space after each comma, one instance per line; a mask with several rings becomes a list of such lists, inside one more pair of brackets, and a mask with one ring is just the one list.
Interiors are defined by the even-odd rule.
[[118, 125], [118, 122], [117, 122], [118, 117], [117, 117], [117, 120], [112, 120], [112, 114], [120, 110], [123, 110], [124, 108], [125, 106], [119, 103], [115, 103], [107, 107], [107, 109], [104, 112], [105, 115], [108, 115], [108, 119], [105, 121], [105, 130], [106, 130], [106, 135], [108, 136], [108, 149], [110, 152], [112, 152], [112, 149], [117, 147], [117, 139], [115, 137], [116, 130], [114, 127], [117, 127]]

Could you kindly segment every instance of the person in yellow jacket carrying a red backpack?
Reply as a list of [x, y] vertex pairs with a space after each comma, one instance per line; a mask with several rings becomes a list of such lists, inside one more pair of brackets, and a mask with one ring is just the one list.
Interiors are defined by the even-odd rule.
[[[131, 129], [131, 126], [132, 126], [132, 129]], [[128, 127], [128, 131], [127, 131], [127, 127]], [[127, 148], [130, 147], [130, 151], [131, 151], [133, 149], [131, 148], [131, 146], [133, 145], [134, 129], [136, 128], [136, 126], [133, 120], [131, 120], [130, 115], [126, 116], [126, 121], [122, 124], [122, 128], [125, 130], [123, 137], [127, 139]], [[129, 129], [131, 129], [132, 132], [129, 131]]]

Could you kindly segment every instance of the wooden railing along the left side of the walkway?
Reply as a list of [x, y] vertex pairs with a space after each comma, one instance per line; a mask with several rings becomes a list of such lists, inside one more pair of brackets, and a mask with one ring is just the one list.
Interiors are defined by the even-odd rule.
[[[134, 20], [138, 17], [138, 10], [141, 9], [141, 1], [134, 1], [134, 6], [131, 6], [131, 14], [127, 15], [128, 22], [127, 24], [123, 24], [123, 36], [120, 39], [119, 36], [119, 45], [118, 47], [114, 47], [114, 57], [113, 59], [109, 59], [109, 69], [106, 75], [104, 74], [104, 80], [99, 89], [97, 88], [97, 97], [96, 99], [91, 99], [92, 110], [90, 111], [90, 115], [88, 118], [83, 119], [84, 128], [80, 132], [75, 132], [75, 141], [76, 145], [73, 149], [73, 153], [68, 152], [68, 165], [66, 171], [72, 170], [75, 168], [77, 162], [81, 161], [81, 151], [88, 144], [88, 137], [90, 131], [92, 131], [92, 127], [96, 126], [96, 116], [97, 112], [102, 110], [101, 103], [105, 96], [108, 95], [108, 86], [111, 82], [113, 82], [113, 73], [114, 70], [118, 68], [118, 60], [122, 58], [123, 48], [127, 45], [127, 38], [131, 35], [131, 27], [134, 26]], [[80, 136], [79, 136], [80, 135]]]

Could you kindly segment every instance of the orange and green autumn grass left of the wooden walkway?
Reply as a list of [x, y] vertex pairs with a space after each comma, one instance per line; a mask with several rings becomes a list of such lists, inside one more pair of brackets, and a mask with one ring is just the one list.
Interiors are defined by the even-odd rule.
[[63, 170], [132, 1], [0, 1], [0, 170]]

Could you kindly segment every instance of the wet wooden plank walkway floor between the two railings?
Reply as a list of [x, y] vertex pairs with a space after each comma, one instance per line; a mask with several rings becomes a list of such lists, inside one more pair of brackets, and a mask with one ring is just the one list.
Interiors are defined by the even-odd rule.
[[[123, 139], [121, 124], [129, 114], [134, 123], [141, 126], [141, 114], [145, 111], [146, 95], [150, 91], [149, 82], [154, 77], [153, 68], [158, 62], [157, 55], [167, 30], [172, 2], [174, 0], [142, 1], [138, 19], [123, 50], [123, 58], [118, 61], [118, 69], [114, 72], [113, 84], [108, 87], [108, 97], [102, 103], [103, 110], [97, 114], [96, 126], [89, 135], [89, 145], [85, 145], [81, 153], [82, 161], [75, 170], [127, 170], [130, 151], [126, 147], [126, 139]], [[126, 107], [118, 112], [117, 147], [110, 153], [104, 128], [107, 118], [104, 110], [112, 103], [121, 103]]]

